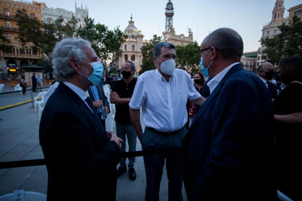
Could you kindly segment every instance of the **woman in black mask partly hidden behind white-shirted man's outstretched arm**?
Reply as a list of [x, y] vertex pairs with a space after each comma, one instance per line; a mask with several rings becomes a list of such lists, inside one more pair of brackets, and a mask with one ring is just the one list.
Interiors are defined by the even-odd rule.
[[[201, 95], [202, 93], [202, 88], [204, 87], [204, 83], [206, 79], [204, 78], [204, 75], [201, 72], [194, 72], [193, 73], [193, 83], [195, 86], [196, 91], [198, 91]], [[190, 103], [189, 106], [189, 125], [191, 125], [191, 122], [193, 121], [194, 116], [196, 115], [197, 111], [199, 110], [200, 106], [193, 104], [192, 102]]]

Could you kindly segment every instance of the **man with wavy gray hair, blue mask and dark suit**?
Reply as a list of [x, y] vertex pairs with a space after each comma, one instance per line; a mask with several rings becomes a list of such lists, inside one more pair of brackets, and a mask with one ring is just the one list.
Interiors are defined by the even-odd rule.
[[115, 200], [121, 140], [106, 132], [86, 91], [103, 66], [90, 43], [64, 38], [52, 52], [59, 85], [44, 107], [39, 129], [47, 172], [47, 200]]

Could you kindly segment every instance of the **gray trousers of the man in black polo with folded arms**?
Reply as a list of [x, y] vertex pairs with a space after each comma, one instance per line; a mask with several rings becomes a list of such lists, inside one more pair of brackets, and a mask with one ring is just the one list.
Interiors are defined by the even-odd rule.
[[[137, 134], [134, 130], [134, 127], [132, 124], [120, 124], [115, 122], [115, 129], [116, 129], [116, 135], [120, 139], [124, 140], [122, 142], [122, 147], [120, 148], [120, 152], [126, 152], [126, 134], [128, 139], [128, 146], [129, 146], [129, 152], [135, 152], [136, 151], [136, 138]], [[128, 168], [133, 168], [135, 157], [128, 158]], [[126, 158], [122, 158], [120, 160], [120, 167], [126, 166]]]

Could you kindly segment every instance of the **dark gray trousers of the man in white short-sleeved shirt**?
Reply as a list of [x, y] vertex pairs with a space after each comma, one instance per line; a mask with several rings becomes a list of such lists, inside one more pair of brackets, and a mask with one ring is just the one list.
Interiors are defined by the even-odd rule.
[[[147, 127], [140, 138], [143, 150], [164, 149], [182, 146], [182, 140], [187, 133], [184, 128], [174, 135], [163, 136], [156, 134]], [[161, 154], [144, 156], [144, 165], [146, 170], [146, 194], [145, 200], [159, 200], [159, 187], [162, 180], [162, 168], [165, 164], [167, 168], [168, 196], [170, 201], [182, 200], [182, 161], [181, 154]]]

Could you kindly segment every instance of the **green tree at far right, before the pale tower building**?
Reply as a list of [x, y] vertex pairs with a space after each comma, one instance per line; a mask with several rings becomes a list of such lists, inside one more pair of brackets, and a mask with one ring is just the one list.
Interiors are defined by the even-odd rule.
[[266, 54], [267, 61], [278, 64], [282, 58], [302, 55], [302, 22], [300, 18], [294, 16], [290, 23], [278, 26], [281, 33], [273, 38], [262, 38], [261, 44], [266, 49], [262, 53]]

